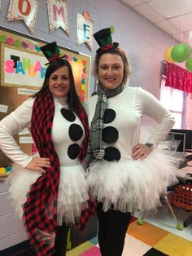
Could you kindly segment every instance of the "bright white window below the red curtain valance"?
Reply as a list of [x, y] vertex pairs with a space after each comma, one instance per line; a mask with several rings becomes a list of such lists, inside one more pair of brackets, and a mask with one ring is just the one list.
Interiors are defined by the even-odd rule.
[[182, 114], [183, 114], [183, 99], [184, 92], [182, 90], [173, 89], [169, 86], [165, 86], [165, 78], [162, 77], [161, 80], [161, 90], [160, 90], [160, 102], [168, 108], [175, 117], [175, 125], [173, 128], [182, 128]]

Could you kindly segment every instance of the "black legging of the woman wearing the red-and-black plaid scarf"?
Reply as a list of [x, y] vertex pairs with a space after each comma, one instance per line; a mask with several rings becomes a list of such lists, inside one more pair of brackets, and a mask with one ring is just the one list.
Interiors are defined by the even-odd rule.
[[67, 237], [68, 237], [69, 227], [63, 223], [62, 226], [59, 226], [55, 236], [55, 254], [54, 256], [65, 256], [67, 249]]

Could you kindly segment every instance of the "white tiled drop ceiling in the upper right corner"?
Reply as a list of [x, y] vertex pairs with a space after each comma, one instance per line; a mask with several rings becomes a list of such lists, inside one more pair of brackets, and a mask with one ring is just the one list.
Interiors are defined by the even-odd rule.
[[[192, 0], [119, 0], [176, 40], [187, 43], [192, 31]], [[184, 34], [185, 33], [185, 34]]]

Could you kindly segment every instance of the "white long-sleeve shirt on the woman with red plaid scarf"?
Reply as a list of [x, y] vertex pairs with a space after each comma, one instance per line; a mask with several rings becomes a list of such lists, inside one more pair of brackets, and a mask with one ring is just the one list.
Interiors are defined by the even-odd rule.
[[[32, 160], [32, 156], [29, 156], [20, 149], [13, 136], [17, 135], [25, 127], [28, 127], [28, 130], [30, 130], [34, 100], [34, 98], [25, 100], [14, 112], [0, 121], [0, 149], [11, 161], [23, 167], [28, 165]], [[79, 160], [77, 156], [70, 156], [73, 153], [70, 151], [70, 146], [72, 144], [76, 144], [76, 147], [78, 147], [77, 144], [81, 146], [85, 135], [84, 128], [75, 113], [69, 111], [71, 115], [74, 115], [74, 121], [68, 121], [68, 118], [63, 117], [61, 114], [61, 108], [68, 109], [66, 98], [54, 98], [54, 103], [55, 117], [51, 135], [59, 156], [60, 165], [76, 165]], [[79, 136], [81, 138], [76, 139], [78, 132], [80, 132]]]

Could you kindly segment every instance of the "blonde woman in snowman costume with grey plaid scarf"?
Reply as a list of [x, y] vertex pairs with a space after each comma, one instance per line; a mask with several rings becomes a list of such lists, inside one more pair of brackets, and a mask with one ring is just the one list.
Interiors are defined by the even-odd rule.
[[[98, 201], [101, 253], [120, 256], [134, 212], [156, 210], [161, 193], [176, 181], [172, 157], [159, 145], [174, 119], [149, 92], [127, 86], [129, 60], [112, 42], [111, 29], [98, 31], [94, 38], [99, 45], [94, 60], [98, 87], [87, 103], [87, 181]], [[157, 123], [151, 135], [142, 133], [144, 115]]]

